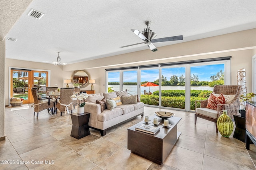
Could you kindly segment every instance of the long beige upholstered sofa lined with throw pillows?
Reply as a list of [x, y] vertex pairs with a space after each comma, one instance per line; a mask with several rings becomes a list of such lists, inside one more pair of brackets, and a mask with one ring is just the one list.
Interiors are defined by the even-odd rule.
[[122, 104], [114, 107], [112, 110], [104, 109], [101, 111], [102, 105], [96, 104], [96, 102], [98, 103], [101, 100], [117, 98], [118, 96], [122, 98], [122, 96], [129, 95], [126, 91], [89, 94], [88, 98], [85, 100], [86, 105], [84, 107], [84, 111], [91, 113], [89, 127], [100, 131], [102, 136], [106, 135], [107, 129], [129, 121], [138, 115], [144, 115], [144, 103], [139, 102], [139, 99], [137, 100], [137, 103]]

